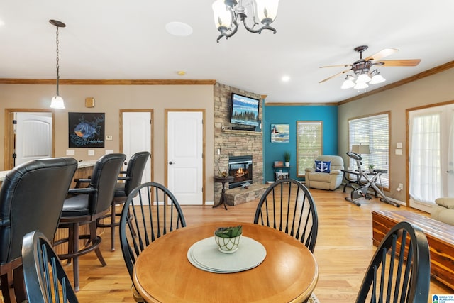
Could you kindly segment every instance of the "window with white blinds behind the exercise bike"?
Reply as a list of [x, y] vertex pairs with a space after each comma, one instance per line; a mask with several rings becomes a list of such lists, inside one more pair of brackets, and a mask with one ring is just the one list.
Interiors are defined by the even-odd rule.
[[[382, 186], [389, 189], [389, 112], [354, 118], [348, 121], [349, 150], [352, 145], [369, 145], [370, 155], [362, 154], [362, 169], [387, 170], [380, 176]], [[355, 160], [350, 158], [349, 167], [356, 169]]]

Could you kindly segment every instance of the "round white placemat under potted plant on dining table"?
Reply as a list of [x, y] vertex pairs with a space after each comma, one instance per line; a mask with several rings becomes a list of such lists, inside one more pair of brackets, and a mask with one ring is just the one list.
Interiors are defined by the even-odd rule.
[[192, 265], [201, 270], [216, 273], [240, 272], [255, 268], [265, 260], [267, 250], [252, 238], [241, 236], [235, 253], [221, 253], [214, 237], [194, 243], [187, 251]]

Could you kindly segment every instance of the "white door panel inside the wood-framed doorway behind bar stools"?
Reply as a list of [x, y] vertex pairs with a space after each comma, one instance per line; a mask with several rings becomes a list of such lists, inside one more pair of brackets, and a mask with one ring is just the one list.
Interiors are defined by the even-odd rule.
[[52, 113], [16, 113], [15, 166], [52, 157]]

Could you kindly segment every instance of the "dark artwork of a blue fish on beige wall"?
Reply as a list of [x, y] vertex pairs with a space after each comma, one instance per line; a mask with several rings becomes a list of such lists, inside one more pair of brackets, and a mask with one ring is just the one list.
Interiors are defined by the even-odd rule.
[[104, 148], [105, 113], [68, 113], [70, 148]]

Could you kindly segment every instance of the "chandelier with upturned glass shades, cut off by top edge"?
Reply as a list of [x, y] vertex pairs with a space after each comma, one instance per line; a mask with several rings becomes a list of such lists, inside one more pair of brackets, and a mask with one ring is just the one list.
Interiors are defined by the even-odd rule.
[[[279, 0], [216, 0], [213, 3], [214, 23], [221, 33], [217, 42], [222, 37], [230, 38], [238, 31], [238, 26], [243, 22], [244, 27], [250, 33], [262, 33], [262, 30], [270, 30], [276, 33], [275, 28], [270, 24], [275, 21], [277, 16], [277, 6]], [[248, 9], [253, 13], [252, 26], [248, 26]], [[255, 28], [260, 23], [262, 27]]]

